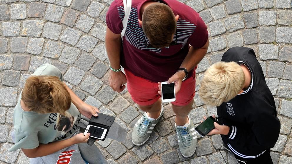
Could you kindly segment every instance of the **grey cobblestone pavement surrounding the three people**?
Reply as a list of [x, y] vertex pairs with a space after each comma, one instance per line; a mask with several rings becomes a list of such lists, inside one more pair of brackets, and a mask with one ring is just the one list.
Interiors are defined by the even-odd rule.
[[[203, 72], [234, 46], [253, 48], [266, 82], [275, 97], [281, 134], [271, 151], [274, 163], [292, 161], [292, 11], [291, 0], [180, 0], [198, 11], [208, 26], [210, 47], [197, 69], [196, 91]], [[42, 63], [52, 63], [86, 103], [116, 116], [128, 131], [122, 143], [97, 142], [114, 163], [224, 163], [219, 135], [199, 138], [195, 155], [180, 154], [174, 113], [165, 114], [143, 146], [131, 142], [131, 128], [141, 116], [127, 90], [115, 93], [108, 86], [105, 57], [105, 16], [112, 0], [0, 0], [0, 163], [29, 163], [21, 152], [8, 152], [12, 140], [12, 113], [25, 80]], [[195, 124], [216, 113], [195, 96], [190, 118]], [[268, 128], [268, 127], [263, 127]], [[268, 137], [268, 136], [267, 136]], [[233, 155], [221, 151], [226, 162]]]

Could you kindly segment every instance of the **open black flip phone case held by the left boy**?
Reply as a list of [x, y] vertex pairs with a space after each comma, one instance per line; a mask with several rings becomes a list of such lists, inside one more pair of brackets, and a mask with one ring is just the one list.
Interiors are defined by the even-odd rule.
[[[114, 123], [116, 118], [114, 116], [109, 116], [109, 115], [98, 113], [98, 112], [97, 114], [98, 114], [97, 117], [92, 116], [90, 118], [89, 125], [105, 128], [107, 129], [107, 133], [108, 133], [109, 128], [112, 126], [112, 123]], [[107, 137], [107, 133], [105, 133], [104, 139], [102, 139], [101, 141], [105, 140], [105, 138]], [[93, 137], [89, 137], [89, 140], [87, 141], [88, 145], [92, 145], [95, 140], [97, 139]]]

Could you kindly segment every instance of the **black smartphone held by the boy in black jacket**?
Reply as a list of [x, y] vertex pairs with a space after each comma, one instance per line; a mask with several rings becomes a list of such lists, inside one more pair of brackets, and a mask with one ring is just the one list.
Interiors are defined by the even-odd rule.
[[195, 130], [199, 133], [202, 137], [207, 135], [211, 130], [215, 128], [214, 122], [218, 123], [213, 116], [208, 117], [205, 121], [203, 121], [200, 125], [198, 125]]

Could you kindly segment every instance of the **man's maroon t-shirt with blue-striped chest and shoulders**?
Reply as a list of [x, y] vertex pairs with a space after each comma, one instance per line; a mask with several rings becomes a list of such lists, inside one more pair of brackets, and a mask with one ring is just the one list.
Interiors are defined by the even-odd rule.
[[[167, 81], [180, 68], [189, 51], [189, 44], [201, 48], [208, 40], [207, 26], [200, 15], [191, 7], [177, 0], [161, 0], [167, 4], [174, 15], [179, 15], [177, 21], [177, 43], [167, 48], [147, 48], [149, 40], [145, 36], [138, 19], [142, 20], [140, 8], [151, 0], [132, 1], [130, 17], [123, 37], [121, 65], [135, 76], [152, 82]], [[123, 0], [115, 0], [107, 12], [107, 26], [115, 34], [121, 34], [124, 18]], [[145, 43], [145, 39], [147, 43]], [[193, 70], [189, 70], [189, 77]]]

